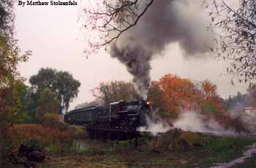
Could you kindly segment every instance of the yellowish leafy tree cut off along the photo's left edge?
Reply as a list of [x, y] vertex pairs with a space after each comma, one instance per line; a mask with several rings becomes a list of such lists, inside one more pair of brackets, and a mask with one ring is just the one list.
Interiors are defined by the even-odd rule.
[[[23, 80], [20, 77], [17, 66], [20, 62], [27, 61], [30, 52], [20, 54], [17, 40], [13, 37], [14, 12], [12, 0], [0, 1], [0, 167], [6, 161], [7, 129], [15, 121], [18, 112], [15, 107], [17, 98], [14, 97], [14, 85], [16, 81]], [[2, 148], [4, 146], [4, 148]], [[4, 159], [4, 161], [1, 161]]]

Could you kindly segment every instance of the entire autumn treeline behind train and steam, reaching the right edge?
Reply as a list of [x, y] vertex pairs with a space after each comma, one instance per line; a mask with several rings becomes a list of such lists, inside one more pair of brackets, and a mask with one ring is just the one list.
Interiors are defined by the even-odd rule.
[[[153, 111], [170, 124], [181, 112], [198, 112], [200, 115], [205, 115], [208, 120], [216, 120], [225, 128], [232, 127], [237, 131], [246, 131], [241, 118], [234, 118], [231, 115], [234, 109], [244, 114], [244, 107], [255, 107], [255, 88], [255, 85], [250, 85], [248, 93], [238, 92], [236, 96], [222, 99], [217, 93], [217, 85], [209, 80], [194, 82], [188, 78], [167, 74], [151, 83], [147, 101], [151, 102]], [[93, 101], [78, 104], [75, 108], [141, 99], [135, 91], [135, 86], [124, 81], [99, 83], [91, 93], [95, 97]]]

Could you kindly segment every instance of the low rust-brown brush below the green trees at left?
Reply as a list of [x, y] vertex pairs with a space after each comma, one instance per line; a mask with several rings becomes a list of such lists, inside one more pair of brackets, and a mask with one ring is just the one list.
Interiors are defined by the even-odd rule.
[[61, 144], [71, 140], [70, 131], [60, 131], [55, 128], [45, 128], [41, 124], [15, 124], [8, 129], [8, 137], [20, 142], [36, 140], [43, 145]]

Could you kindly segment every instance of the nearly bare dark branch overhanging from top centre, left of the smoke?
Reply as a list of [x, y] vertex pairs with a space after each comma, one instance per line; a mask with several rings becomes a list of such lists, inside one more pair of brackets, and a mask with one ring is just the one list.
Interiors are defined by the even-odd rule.
[[99, 39], [89, 39], [89, 48], [85, 52], [97, 53], [102, 47], [118, 40], [121, 34], [138, 23], [153, 2], [154, 0], [99, 0], [96, 9], [85, 9], [88, 15], [85, 27], [99, 34]]

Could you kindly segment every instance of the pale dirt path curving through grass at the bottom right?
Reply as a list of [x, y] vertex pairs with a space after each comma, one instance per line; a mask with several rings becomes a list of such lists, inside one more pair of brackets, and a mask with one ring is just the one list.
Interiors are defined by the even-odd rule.
[[249, 145], [247, 147], [247, 150], [243, 153], [243, 156], [241, 156], [238, 159], [235, 159], [233, 161], [230, 161], [228, 163], [219, 163], [216, 164], [216, 166], [211, 167], [211, 168], [227, 168], [227, 167], [233, 167], [236, 164], [242, 164], [244, 163], [244, 161], [250, 157], [252, 157], [252, 155], [256, 153], [256, 143]]

